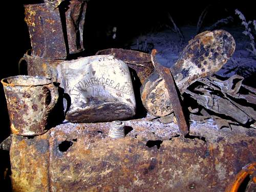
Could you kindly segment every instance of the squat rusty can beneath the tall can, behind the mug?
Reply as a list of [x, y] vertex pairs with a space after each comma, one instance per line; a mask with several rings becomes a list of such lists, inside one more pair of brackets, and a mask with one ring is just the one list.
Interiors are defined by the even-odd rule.
[[46, 76], [52, 81], [57, 82], [57, 66], [63, 60], [45, 59], [41, 57], [24, 54], [23, 58], [27, 62], [28, 75], [31, 76]]

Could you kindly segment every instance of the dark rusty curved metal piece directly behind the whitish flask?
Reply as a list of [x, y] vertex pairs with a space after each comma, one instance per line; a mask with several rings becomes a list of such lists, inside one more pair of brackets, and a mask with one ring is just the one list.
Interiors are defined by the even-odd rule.
[[153, 73], [154, 66], [151, 62], [150, 54], [139, 51], [125, 50], [125, 49], [105, 49], [98, 51], [96, 55], [114, 55], [116, 58], [124, 61], [133, 69], [142, 84], [145, 79]]

